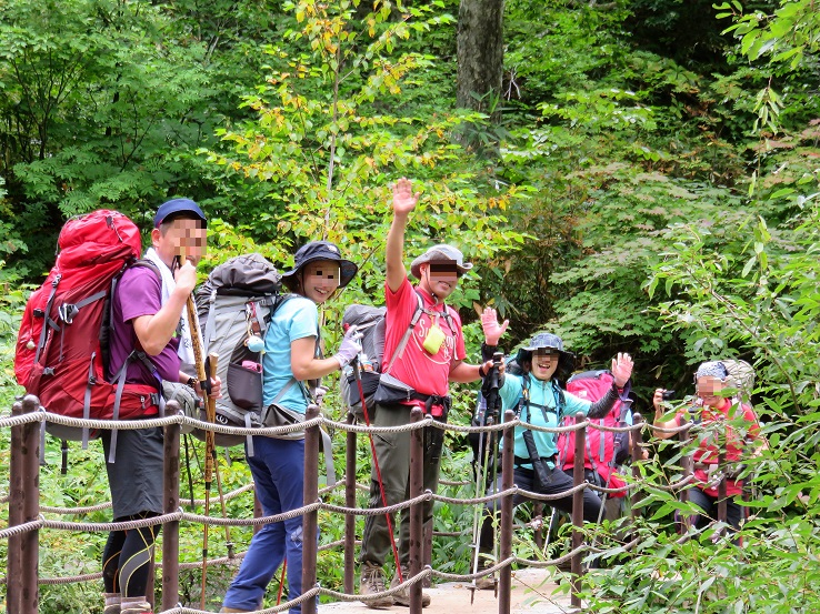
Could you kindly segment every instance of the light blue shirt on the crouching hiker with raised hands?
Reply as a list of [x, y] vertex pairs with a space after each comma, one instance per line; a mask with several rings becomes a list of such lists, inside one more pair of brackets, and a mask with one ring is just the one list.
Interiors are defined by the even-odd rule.
[[[507, 410], [513, 412], [518, 409], [518, 400], [521, 397], [523, 391], [523, 375], [504, 375], [504, 384], [499, 389], [501, 395], [501, 421], [503, 422], [504, 413]], [[589, 413], [589, 409], [592, 405], [589, 401], [579, 399], [574, 394], [567, 391], [563, 392], [563, 410], [559, 416], [556, 407], [558, 407], [558, 394], [552, 381], [542, 382], [536, 378], [530, 376], [530, 415], [529, 420], [527, 416], [527, 410], [522, 410], [521, 420], [534, 424], [536, 426], [547, 426], [554, 429], [560, 425], [560, 422], [566, 415], [574, 415], [581, 412], [583, 415]], [[526, 429], [516, 426], [516, 456], [522, 459], [529, 459], [530, 454], [527, 451], [527, 444], [523, 441], [523, 433]], [[556, 441], [558, 440], [558, 433], [544, 433], [542, 431], [532, 431], [532, 439], [536, 442], [538, 449], [538, 455], [542, 459], [550, 459], [558, 453], [558, 446]], [[550, 466], [554, 466], [551, 461], [548, 461]], [[524, 464], [526, 467], [531, 467], [530, 464]]]

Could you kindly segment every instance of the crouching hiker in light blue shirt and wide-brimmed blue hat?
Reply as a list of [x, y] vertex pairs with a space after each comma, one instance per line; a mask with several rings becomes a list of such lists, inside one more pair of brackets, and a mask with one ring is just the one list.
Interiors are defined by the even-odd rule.
[[[491, 314], [494, 315], [494, 314]], [[482, 318], [484, 331], [494, 330], [496, 318]], [[487, 334], [487, 333], [486, 333]], [[606, 394], [596, 402], [586, 401], [567, 392], [564, 382], [572, 372], [574, 356], [563, 349], [560, 336], [543, 332], [536, 334], [529, 343], [518, 351], [514, 364], [508, 364], [501, 376], [499, 395], [501, 397], [500, 419], [512, 410], [529, 424], [554, 429], [561, 425], [564, 416], [577, 413], [592, 419], [603, 417], [623, 393], [623, 386], [632, 374], [632, 359], [619, 353], [612, 359], [613, 382]], [[532, 431], [522, 426], [514, 430], [514, 483], [526, 490], [540, 494], [559, 494], [572, 489], [572, 479], [558, 464], [557, 433]], [[500, 477], [494, 485], [501, 490]], [[513, 505], [526, 501], [516, 495]], [[572, 513], [572, 495], [548, 502], [562, 512]], [[496, 538], [493, 516], [497, 504], [487, 506], [479, 537], [479, 553], [484, 555], [481, 568], [492, 566], [490, 553]], [[591, 490], [583, 491], [583, 520], [597, 522], [601, 500]], [[479, 590], [494, 588], [494, 580], [483, 576], [476, 582]]]

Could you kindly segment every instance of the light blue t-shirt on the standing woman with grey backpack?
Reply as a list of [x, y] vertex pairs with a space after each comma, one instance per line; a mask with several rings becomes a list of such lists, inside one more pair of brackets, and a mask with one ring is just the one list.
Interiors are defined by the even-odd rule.
[[[264, 333], [262, 402], [266, 407], [293, 378], [290, 369], [290, 344], [306, 336], [319, 338], [319, 310], [310, 299], [294, 296], [277, 310]], [[277, 403], [299, 413], [304, 413], [308, 409], [303, 389], [297, 382]]]

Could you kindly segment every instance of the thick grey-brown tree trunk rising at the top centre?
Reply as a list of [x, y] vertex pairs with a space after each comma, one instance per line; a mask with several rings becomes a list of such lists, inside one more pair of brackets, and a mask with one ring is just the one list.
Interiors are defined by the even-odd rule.
[[503, 0], [461, 0], [457, 104], [494, 114], [503, 70]]

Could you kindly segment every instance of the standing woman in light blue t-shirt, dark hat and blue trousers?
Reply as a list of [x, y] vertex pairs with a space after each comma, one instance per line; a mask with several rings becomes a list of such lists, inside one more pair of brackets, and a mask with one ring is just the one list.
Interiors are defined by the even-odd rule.
[[[319, 348], [319, 306], [348, 285], [358, 270], [353, 262], [341, 256], [336, 244], [312, 241], [299, 248], [293, 269], [282, 274], [282, 283], [292, 294], [282, 296], [271, 312], [264, 333], [261, 417], [264, 425], [303, 422], [308, 405], [317, 402], [307, 381], [344, 369], [361, 351], [354, 329], [344, 335], [332, 356], [322, 358]], [[304, 431], [279, 437], [253, 435], [252, 446], [251, 454], [246, 443], [246, 459], [264, 515], [301, 507]], [[302, 520], [296, 516], [266, 524], [253, 535], [220, 612], [261, 610], [268, 584], [286, 558], [288, 600], [302, 594]], [[301, 604], [290, 608], [291, 614], [301, 611]]]

